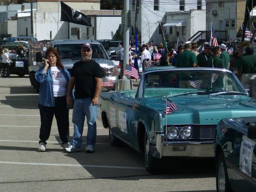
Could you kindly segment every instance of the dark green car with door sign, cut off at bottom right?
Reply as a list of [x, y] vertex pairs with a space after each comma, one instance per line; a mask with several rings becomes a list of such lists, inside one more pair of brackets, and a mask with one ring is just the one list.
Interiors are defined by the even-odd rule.
[[217, 192], [256, 192], [256, 117], [221, 120], [215, 158]]

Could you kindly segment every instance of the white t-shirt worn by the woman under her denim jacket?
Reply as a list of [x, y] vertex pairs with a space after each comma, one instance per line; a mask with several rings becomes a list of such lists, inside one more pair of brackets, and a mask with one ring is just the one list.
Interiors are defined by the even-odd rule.
[[51, 67], [53, 77], [53, 96], [65, 96], [67, 81], [58, 67]]

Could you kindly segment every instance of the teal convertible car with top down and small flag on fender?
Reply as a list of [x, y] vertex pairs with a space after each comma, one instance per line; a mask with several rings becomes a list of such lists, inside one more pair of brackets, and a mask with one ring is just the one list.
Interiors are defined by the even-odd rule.
[[214, 157], [219, 120], [256, 116], [256, 100], [229, 70], [153, 67], [137, 90], [102, 92], [99, 110], [110, 143], [145, 153], [155, 173], [163, 156]]

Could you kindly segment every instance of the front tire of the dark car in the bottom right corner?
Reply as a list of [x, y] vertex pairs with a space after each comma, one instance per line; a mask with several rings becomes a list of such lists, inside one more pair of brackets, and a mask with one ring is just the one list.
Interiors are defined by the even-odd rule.
[[217, 162], [216, 188], [217, 192], [232, 192], [223, 152]]

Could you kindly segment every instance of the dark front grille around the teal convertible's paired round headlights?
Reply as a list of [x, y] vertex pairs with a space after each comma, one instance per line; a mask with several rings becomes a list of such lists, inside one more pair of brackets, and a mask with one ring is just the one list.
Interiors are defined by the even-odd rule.
[[190, 140], [213, 140], [216, 134], [216, 125], [169, 125], [168, 127], [176, 127], [179, 131], [184, 126], [190, 126], [192, 128], [192, 137], [189, 139], [182, 139], [180, 136], [177, 139], [168, 139], [168, 141], [190, 141]]

